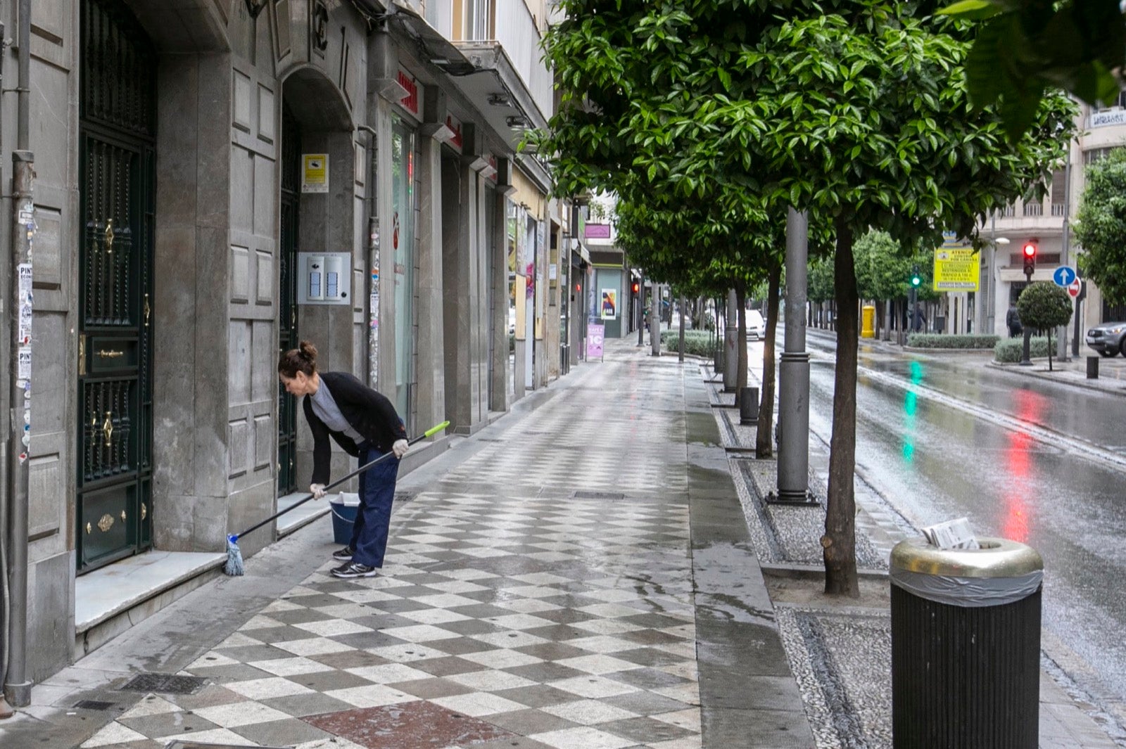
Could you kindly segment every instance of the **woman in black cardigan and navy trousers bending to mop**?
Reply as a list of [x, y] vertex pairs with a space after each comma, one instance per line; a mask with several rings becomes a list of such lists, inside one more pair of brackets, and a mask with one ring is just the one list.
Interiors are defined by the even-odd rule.
[[282, 354], [278, 376], [287, 392], [305, 396], [305, 419], [313, 432], [313, 482], [309, 490], [318, 499], [329, 482], [329, 435], [358, 458], [360, 466], [394, 453], [359, 475], [359, 509], [351, 541], [332, 554], [345, 562], [332, 570], [333, 577], [373, 577], [383, 567], [399, 461], [409, 446], [403, 421], [386, 397], [348, 372], [318, 372], [316, 348], [307, 341]]

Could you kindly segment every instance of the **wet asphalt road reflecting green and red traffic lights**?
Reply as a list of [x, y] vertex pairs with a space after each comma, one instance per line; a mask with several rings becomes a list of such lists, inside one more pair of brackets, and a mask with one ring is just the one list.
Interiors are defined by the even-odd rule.
[[[811, 428], [828, 442], [834, 345], [807, 348]], [[863, 350], [857, 466], [917, 526], [966, 516], [1037, 549], [1045, 652], [1126, 725], [1126, 397], [988, 359]]]

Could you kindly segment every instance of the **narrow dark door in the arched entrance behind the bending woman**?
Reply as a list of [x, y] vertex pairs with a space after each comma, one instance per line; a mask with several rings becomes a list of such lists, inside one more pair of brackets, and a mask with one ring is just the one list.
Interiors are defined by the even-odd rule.
[[[282, 107], [282, 283], [278, 348], [295, 349], [297, 337], [297, 218], [301, 215], [301, 129], [289, 107]], [[278, 495], [297, 486], [297, 399], [278, 383]]]

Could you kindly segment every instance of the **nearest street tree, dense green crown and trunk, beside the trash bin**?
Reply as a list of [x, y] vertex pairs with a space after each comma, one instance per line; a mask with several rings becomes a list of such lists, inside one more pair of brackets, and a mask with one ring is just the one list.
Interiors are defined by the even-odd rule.
[[[653, 196], [721, 208], [793, 205], [835, 236], [838, 352], [825, 590], [857, 595], [858, 296], [852, 244], [870, 226], [903, 247], [972, 236], [991, 209], [1046, 183], [1071, 134], [1063, 97], [1004, 137], [955, 75], [964, 25], [894, 0], [564, 0], [547, 54], [566, 102], [540, 153], [563, 191], [643, 179]], [[1058, 130], [1057, 130], [1058, 128]], [[671, 196], [668, 197], [668, 196]]]

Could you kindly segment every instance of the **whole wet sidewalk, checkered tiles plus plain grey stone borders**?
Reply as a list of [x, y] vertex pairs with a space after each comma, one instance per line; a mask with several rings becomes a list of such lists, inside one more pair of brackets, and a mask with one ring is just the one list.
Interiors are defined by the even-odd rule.
[[[609, 342], [400, 481], [378, 577], [330, 577], [318, 521], [38, 685], [0, 745], [810, 747], [717, 442], [694, 362]], [[123, 691], [155, 670], [190, 688]]]

